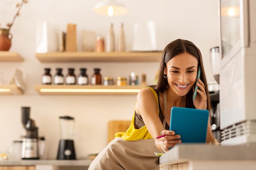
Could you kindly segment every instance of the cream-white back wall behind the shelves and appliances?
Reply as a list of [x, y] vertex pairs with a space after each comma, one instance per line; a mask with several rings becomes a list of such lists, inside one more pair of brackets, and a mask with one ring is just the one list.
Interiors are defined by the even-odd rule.
[[[97, 35], [106, 36], [107, 26], [112, 22], [117, 31], [117, 24], [124, 23], [126, 49], [132, 50], [133, 25], [138, 21], [155, 20], [157, 27], [157, 49], [171, 41], [182, 38], [194, 42], [201, 50], [207, 79], [211, 75], [209, 49], [218, 46], [218, 2], [216, 0], [120, 0], [130, 12], [123, 16], [101, 16], [94, 14], [92, 8], [101, 0], [29, 0], [20, 16], [11, 28], [13, 34], [10, 51], [18, 52], [24, 62], [0, 62], [0, 72], [9, 80], [15, 68], [23, 71], [27, 91], [21, 96], [0, 96], [0, 151], [7, 150], [12, 140], [25, 135], [21, 124], [21, 106], [31, 107], [31, 118], [39, 127], [39, 135], [45, 136], [48, 158], [56, 159], [59, 128], [58, 117], [70, 115], [76, 119], [75, 147], [78, 159], [88, 154], [99, 152], [107, 141], [107, 123], [112, 119], [131, 119], [136, 96], [54, 96], [38, 95], [35, 84], [40, 84], [45, 67], [88, 68], [91, 76], [94, 67], [101, 68], [105, 76], [126, 76], [135, 71], [139, 75], [147, 74], [147, 84], [152, 84], [158, 62], [145, 63], [40, 63], [35, 53], [35, 32], [38, 21], [59, 24], [65, 31], [67, 23], [77, 24], [78, 50], [81, 50], [81, 30], [96, 31]], [[0, 24], [3, 27], [12, 20], [19, 0], [0, 1]]]

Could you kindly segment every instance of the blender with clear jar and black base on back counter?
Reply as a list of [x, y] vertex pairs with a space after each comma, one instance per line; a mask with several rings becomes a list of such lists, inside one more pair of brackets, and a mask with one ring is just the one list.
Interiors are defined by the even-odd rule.
[[76, 159], [74, 147], [74, 118], [70, 116], [61, 116], [60, 132], [61, 139], [58, 146], [57, 159]]

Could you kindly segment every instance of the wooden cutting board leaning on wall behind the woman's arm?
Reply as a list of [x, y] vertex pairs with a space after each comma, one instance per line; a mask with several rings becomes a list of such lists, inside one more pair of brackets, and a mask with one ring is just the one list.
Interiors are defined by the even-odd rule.
[[129, 128], [130, 120], [111, 120], [108, 122], [108, 143], [115, 138], [117, 132], [126, 132]]

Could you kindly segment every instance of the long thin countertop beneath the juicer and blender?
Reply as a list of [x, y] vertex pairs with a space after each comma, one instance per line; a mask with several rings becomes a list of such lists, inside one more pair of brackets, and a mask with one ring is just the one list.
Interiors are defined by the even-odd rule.
[[52, 166], [89, 166], [92, 160], [4, 160], [0, 161], [0, 166], [36, 166], [36, 165], [52, 165]]

